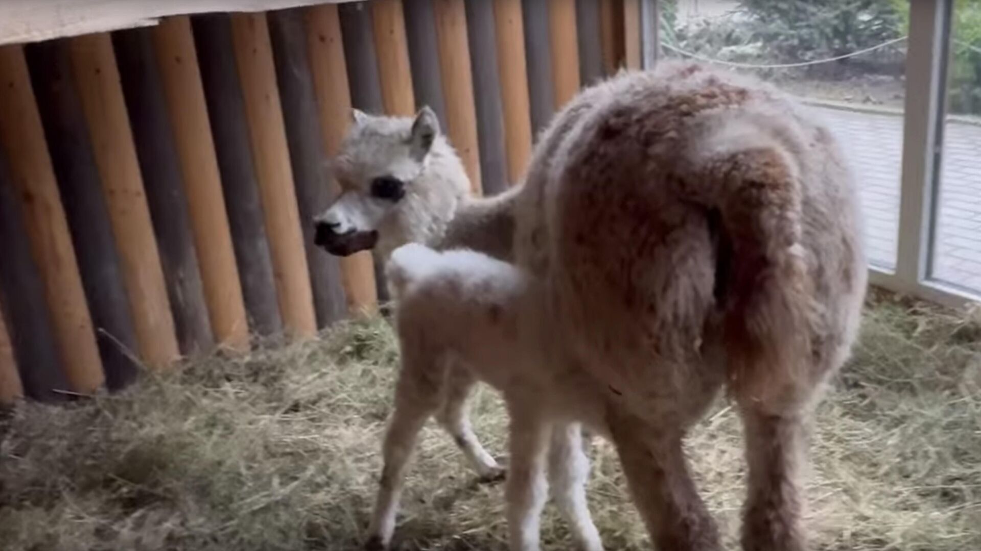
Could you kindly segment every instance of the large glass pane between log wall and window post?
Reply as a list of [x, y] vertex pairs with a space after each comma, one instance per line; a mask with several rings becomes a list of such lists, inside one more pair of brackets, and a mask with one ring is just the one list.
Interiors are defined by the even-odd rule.
[[664, 4], [665, 56], [757, 75], [800, 96], [825, 119], [858, 182], [869, 260], [895, 268], [909, 0]]

